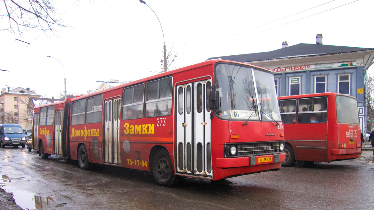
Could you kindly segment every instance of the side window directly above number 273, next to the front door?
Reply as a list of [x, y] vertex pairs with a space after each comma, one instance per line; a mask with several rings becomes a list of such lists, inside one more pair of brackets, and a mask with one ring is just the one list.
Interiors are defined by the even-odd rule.
[[145, 117], [171, 114], [172, 77], [147, 83], [145, 89]]

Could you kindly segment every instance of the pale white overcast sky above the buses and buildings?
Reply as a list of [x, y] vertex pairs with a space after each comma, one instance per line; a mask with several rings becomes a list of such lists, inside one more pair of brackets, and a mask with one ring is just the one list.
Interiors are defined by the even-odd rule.
[[[173, 47], [174, 53], [178, 52], [171, 66], [176, 69], [215, 56], [280, 49], [282, 41], [287, 41], [288, 46], [315, 44], [316, 34], [322, 34], [323, 44], [327, 45], [374, 48], [374, 1], [353, 1], [146, 0], [146, 3], [160, 19], [167, 48]], [[0, 31], [0, 68], [9, 71], [0, 71], [2, 88], [30, 87], [39, 95], [58, 97], [64, 91], [64, 71], [58, 61], [46, 56], [62, 63], [67, 92], [74, 95], [97, 89], [101, 83], [96, 81], [134, 81], [162, 67], [160, 24], [152, 10], [139, 0], [95, 3], [55, 0], [53, 3], [63, 14], [64, 24], [70, 27], [59, 28], [55, 35], [37, 30], [25, 31], [22, 36]], [[4, 24], [7, 20], [0, 21]], [[374, 65], [369, 72], [374, 72]]]

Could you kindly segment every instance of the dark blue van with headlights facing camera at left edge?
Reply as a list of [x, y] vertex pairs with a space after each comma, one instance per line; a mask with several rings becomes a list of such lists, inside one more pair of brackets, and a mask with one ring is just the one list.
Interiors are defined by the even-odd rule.
[[19, 124], [0, 124], [0, 147], [22, 146], [25, 148], [26, 138], [22, 127]]

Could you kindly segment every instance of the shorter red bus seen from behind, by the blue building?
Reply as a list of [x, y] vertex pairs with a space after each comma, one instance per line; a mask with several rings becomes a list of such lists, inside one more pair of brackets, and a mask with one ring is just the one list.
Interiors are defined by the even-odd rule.
[[339, 93], [278, 97], [284, 123], [282, 166], [349, 160], [361, 154], [356, 98]]

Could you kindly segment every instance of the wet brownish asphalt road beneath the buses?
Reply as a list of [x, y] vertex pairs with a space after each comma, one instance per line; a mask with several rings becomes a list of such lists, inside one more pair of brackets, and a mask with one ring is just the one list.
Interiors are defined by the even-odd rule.
[[372, 151], [363, 151], [355, 160], [282, 167], [216, 182], [184, 178], [166, 188], [147, 172], [113, 166], [85, 171], [75, 161], [53, 155], [45, 160], [34, 151], [6, 147], [0, 148], [0, 187], [13, 192], [23, 209], [373, 210], [370, 161]]

